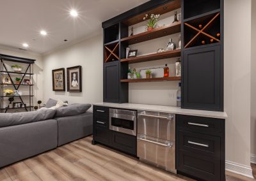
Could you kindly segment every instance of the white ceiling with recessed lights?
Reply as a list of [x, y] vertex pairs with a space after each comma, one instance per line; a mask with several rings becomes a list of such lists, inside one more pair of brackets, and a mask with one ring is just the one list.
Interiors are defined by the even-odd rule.
[[[148, 0], [1, 0], [0, 45], [44, 54], [102, 31], [101, 23]], [[69, 15], [76, 9], [79, 17]], [[40, 35], [44, 29], [49, 34]], [[65, 42], [63, 40], [67, 39]]]

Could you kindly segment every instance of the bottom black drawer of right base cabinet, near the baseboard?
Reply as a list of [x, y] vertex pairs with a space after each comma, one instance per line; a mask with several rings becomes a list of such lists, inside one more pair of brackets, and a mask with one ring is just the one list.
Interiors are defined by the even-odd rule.
[[220, 159], [205, 157], [188, 151], [179, 152], [179, 171], [202, 180], [221, 180]]

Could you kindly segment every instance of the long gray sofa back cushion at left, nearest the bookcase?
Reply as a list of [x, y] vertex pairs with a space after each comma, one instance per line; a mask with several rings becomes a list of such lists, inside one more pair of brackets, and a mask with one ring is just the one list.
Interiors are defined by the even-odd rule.
[[52, 119], [56, 110], [40, 109], [36, 112], [0, 113], [0, 127]]

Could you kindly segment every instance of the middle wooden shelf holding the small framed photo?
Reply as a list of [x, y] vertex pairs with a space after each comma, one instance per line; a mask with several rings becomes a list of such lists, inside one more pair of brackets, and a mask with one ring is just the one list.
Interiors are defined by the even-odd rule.
[[180, 57], [180, 49], [156, 53], [156, 54], [142, 55], [142, 56], [138, 56], [138, 57], [131, 57], [128, 59], [121, 59], [121, 62], [138, 63], [138, 62], [147, 62], [147, 61], [168, 59], [168, 58], [173, 58], [173, 57]]

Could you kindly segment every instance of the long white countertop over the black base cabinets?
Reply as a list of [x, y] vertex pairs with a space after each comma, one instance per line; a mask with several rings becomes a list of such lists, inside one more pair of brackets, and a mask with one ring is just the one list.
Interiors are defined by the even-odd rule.
[[227, 113], [225, 112], [211, 112], [204, 110], [189, 110], [182, 109], [175, 106], [161, 106], [161, 105], [142, 105], [142, 104], [133, 104], [133, 103], [93, 103], [95, 106], [107, 106], [112, 108], [124, 108], [131, 110], [145, 110], [152, 112], [164, 112], [164, 113], [174, 113], [180, 115], [193, 115], [199, 117], [212, 117], [216, 119], [226, 119]]

